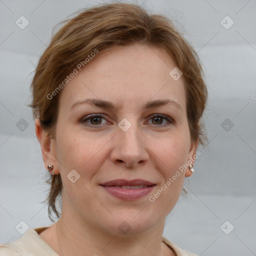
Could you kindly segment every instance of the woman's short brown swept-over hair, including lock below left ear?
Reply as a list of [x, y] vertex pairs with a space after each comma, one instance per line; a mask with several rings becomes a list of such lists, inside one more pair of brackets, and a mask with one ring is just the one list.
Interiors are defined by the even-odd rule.
[[[82, 9], [60, 24], [64, 25], [52, 36], [49, 46], [41, 55], [31, 83], [33, 117], [39, 118], [42, 128], [55, 136], [58, 114], [57, 93], [51, 93], [77, 63], [97, 49], [142, 42], [160, 46], [171, 56], [181, 70], [186, 91], [186, 111], [190, 136], [203, 144], [204, 135], [200, 118], [206, 104], [207, 89], [203, 71], [195, 50], [164, 15], [150, 14], [144, 8], [129, 3], [109, 3]], [[60, 174], [50, 177], [47, 197], [49, 218], [57, 217], [56, 199], [61, 195]], [[51, 215], [52, 216], [52, 215]], [[52, 220], [53, 221], [53, 220]]]

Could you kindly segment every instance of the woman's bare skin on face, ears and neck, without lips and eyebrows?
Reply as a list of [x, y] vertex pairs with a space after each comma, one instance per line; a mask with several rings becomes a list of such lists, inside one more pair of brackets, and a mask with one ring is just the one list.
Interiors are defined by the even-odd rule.
[[[182, 76], [175, 81], [169, 75], [174, 67], [157, 46], [109, 48], [61, 90], [55, 137], [35, 121], [45, 168], [53, 164], [54, 174], [60, 173], [63, 182], [61, 217], [39, 234], [59, 255], [175, 255], [161, 236], [184, 176], [191, 175], [189, 169], [154, 202], [148, 200], [191, 159], [197, 146], [189, 134]], [[70, 109], [86, 98], [111, 101], [116, 109], [89, 104]], [[171, 99], [181, 109], [174, 103], [143, 108], [156, 99]], [[92, 113], [102, 118], [81, 121]], [[164, 114], [173, 122], [152, 114]], [[118, 127], [123, 118], [131, 124], [127, 131]], [[66, 177], [72, 169], [80, 175], [74, 183]], [[156, 185], [149, 195], [127, 201], [99, 185], [116, 178], [141, 178]], [[131, 227], [126, 234], [118, 228], [123, 221]]]

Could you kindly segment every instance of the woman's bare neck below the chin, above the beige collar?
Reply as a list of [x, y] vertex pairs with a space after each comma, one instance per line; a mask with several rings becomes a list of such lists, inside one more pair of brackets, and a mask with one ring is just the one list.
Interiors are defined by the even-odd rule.
[[128, 256], [171, 255], [171, 249], [161, 242], [164, 222], [142, 233], [106, 233], [77, 218], [61, 214], [56, 225], [58, 244], [55, 251], [60, 256]]

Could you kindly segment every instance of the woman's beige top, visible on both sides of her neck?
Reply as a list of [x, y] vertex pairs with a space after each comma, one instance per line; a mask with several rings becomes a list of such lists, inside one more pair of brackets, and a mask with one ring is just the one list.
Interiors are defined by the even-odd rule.
[[[19, 239], [7, 244], [0, 244], [0, 256], [59, 256], [40, 236], [39, 233], [48, 226], [28, 229]], [[162, 241], [168, 245], [176, 256], [198, 256], [180, 249], [174, 242], [162, 236]]]

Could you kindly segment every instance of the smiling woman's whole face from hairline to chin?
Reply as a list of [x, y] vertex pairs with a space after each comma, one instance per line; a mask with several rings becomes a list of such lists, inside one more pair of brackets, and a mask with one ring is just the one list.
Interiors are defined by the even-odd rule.
[[99, 51], [65, 85], [45, 161], [62, 178], [62, 215], [115, 234], [164, 224], [191, 173], [172, 176], [195, 153], [174, 67], [163, 49], [135, 43]]

